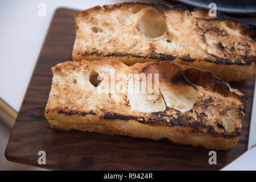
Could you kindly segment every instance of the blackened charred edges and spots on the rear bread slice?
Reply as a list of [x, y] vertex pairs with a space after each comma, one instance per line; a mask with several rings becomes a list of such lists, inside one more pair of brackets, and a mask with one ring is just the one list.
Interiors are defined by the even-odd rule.
[[[151, 6], [151, 7], [155, 7], [156, 9], [160, 10], [161, 12], [165, 11], [165, 10], [179, 10], [179, 11], [187, 11], [188, 15], [189, 13], [191, 14], [191, 12], [193, 11], [197, 11], [199, 9], [203, 9], [203, 8], [199, 8], [199, 9], [193, 9], [192, 11], [189, 11], [187, 9], [187, 7], [183, 6], [183, 5], [174, 5], [174, 6], [169, 6], [169, 5], [164, 5], [162, 3], [143, 3], [143, 2], [125, 2], [125, 3], [117, 3], [114, 5], [105, 5], [102, 7], [100, 6], [96, 6], [92, 9], [104, 9], [105, 11], [109, 11], [109, 10], [113, 10], [116, 8], [119, 8], [121, 6], [133, 6], [133, 5], [144, 5], [144, 6]], [[85, 10], [85, 11], [81, 11], [82, 15], [88, 14], [89, 10]], [[206, 11], [208, 13], [207, 9], [203, 9], [204, 11]], [[251, 38], [253, 38], [255, 40], [255, 35], [256, 35], [256, 27], [251, 25], [251, 24], [247, 24], [247, 23], [242, 23], [237, 19], [231, 18], [229, 16], [217, 13], [217, 16], [214, 18], [196, 18], [199, 20], [206, 20], [206, 21], [210, 21], [210, 20], [221, 20], [221, 21], [230, 21], [232, 20], [233, 22], [235, 22], [236, 24], [240, 24], [241, 28], [242, 28], [242, 34], [248, 34], [249, 36], [251, 36], [251, 34], [253, 34], [254, 36], [251, 36]], [[197, 24], [198, 26], [198, 24]], [[137, 26], [137, 29], [139, 30], [139, 27]], [[202, 28], [200, 28], [202, 30]], [[209, 30], [213, 30], [216, 31], [218, 35], [220, 36], [226, 36], [226, 34], [224, 33], [224, 31], [220, 30], [220, 28], [218, 27], [211, 27], [211, 28], [207, 28], [206, 31], [203, 32], [202, 37], [203, 40], [205, 42], [205, 34], [209, 31]], [[253, 32], [253, 33], [251, 33]], [[170, 42], [167, 40], [167, 42]], [[239, 44], [239, 43], [238, 43]], [[241, 43], [240, 43], [241, 44]], [[217, 44], [218, 49], [220, 49], [221, 51], [225, 50], [225, 47], [222, 45], [222, 43], [218, 43]], [[234, 47], [230, 48], [231, 50], [235, 51]], [[155, 48], [151, 47], [150, 48], [151, 53], [149, 53], [148, 55], [140, 55], [140, 54], [133, 54], [133, 53], [118, 53], [118, 52], [114, 52], [114, 53], [108, 53], [108, 54], [104, 54], [103, 52], [98, 52], [96, 49], [93, 49], [92, 52], [86, 51], [84, 53], [82, 53], [82, 56], [89, 56], [89, 55], [98, 55], [98, 56], [104, 56], [104, 57], [108, 57], [108, 56], [115, 56], [115, 57], [136, 57], [139, 59], [146, 59], [146, 58], [150, 58], [150, 59], [160, 59], [160, 60], [167, 60], [167, 61], [172, 61], [175, 60], [177, 57], [179, 56], [172, 56], [172, 55], [168, 55], [166, 53], [155, 53]], [[241, 60], [230, 60], [230, 59], [224, 59], [221, 57], [217, 57], [214, 56], [216, 58], [216, 61], [213, 60], [209, 60], [207, 58], [203, 59], [205, 61], [208, 61], [210, 63], [214, 63], [214, 64], [225, 64], [225, 65], [251, 65], [251, 61], [256, 61], [256, 56], [250, 57], [249, 55], [247, 55], [248, 51], [245, 53], [245, 55], [240, 55], [241, 57], [246, 56], [246, 62], [242, 62]], [[183, 57], [179, 57], [180, 59], [184, 60], [184, 61], [195, 61], [196, 59], [194, 59], [193, 57], [189, 57], [189, 56], [183, 56]]]

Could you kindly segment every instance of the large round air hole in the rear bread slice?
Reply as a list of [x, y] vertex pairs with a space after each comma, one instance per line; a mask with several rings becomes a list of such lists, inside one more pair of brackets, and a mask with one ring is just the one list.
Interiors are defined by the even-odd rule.
[[139, 19], [142, 36], [145, 40], [163, 38], [167, 26], [164, 16], [157, 10], [149, 9]]

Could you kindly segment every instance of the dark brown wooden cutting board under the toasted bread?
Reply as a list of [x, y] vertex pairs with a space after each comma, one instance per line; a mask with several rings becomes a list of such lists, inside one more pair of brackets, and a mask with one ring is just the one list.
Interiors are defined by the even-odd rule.
[[217, 151], [217, 165], [209, 165], [209, 150], [181, 146], [168, 140], [109, 136], [80, 131], [59, 131], [49, 127], [44, 117], [51, 89], [51, 67], [72, 60], [75, 40], [75, 10], [57, 9], [28, 86], [23, 104], [7, 144], [7, 160], [39, 166], [38, 152], [46, 152], [50, 169], [86, 170], [216, 170], [246, 151], [254, 79], [231, 84], [249, 96], [240, 142], [229, 151]]

